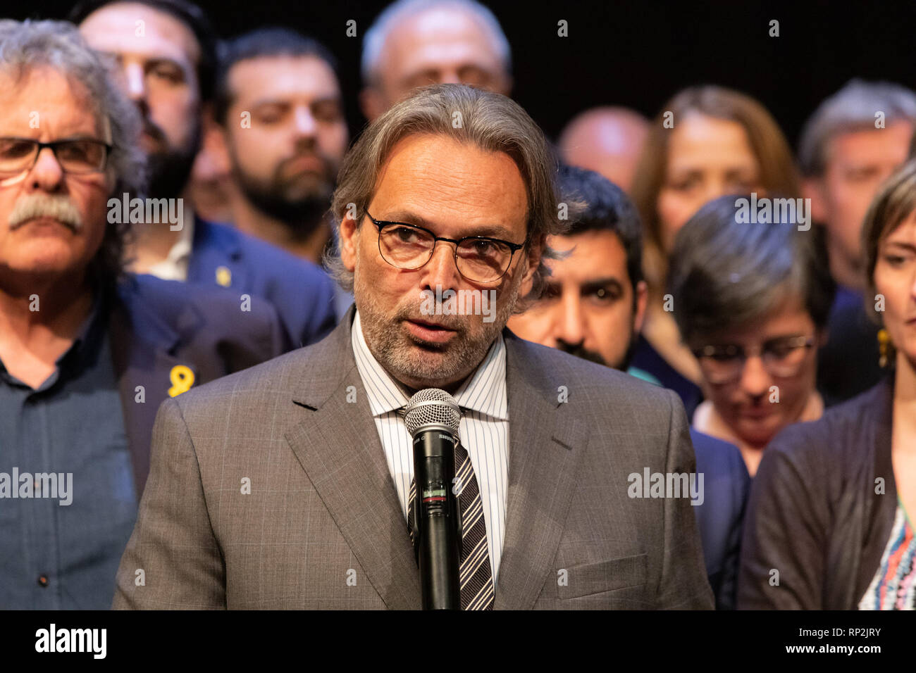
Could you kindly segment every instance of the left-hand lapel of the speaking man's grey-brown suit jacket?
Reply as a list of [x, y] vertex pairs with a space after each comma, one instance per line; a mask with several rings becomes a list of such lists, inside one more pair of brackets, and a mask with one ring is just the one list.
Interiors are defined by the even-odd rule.
[[[310, 358], [302, 377], [308, 383], [294, 396], [306, 416], [286, 439], [387, 607], [419, 609], [420, 578], [407, 523], [354, 361], [353, 316], [351, 308]], [[347, 402], [348, 389], [351, 398], [355, 391], [355, 402]]]

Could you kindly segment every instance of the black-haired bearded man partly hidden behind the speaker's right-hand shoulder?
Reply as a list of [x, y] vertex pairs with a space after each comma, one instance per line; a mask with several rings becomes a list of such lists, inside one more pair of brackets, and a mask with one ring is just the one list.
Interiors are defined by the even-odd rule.
[[[591, 170], [562, 166], [560, 187], [573, 225], [549, 244], [565, 253], [549, 263], [544, 295], [508, 327], [518, 336], [598, 364], [627, 370], [646, 309], [642, 228], [623, 190]], [[737, 447], [691, 430], [703, 495], [694, 513], [716, 608], [734, 609], [738, 548], [750, 485]]]

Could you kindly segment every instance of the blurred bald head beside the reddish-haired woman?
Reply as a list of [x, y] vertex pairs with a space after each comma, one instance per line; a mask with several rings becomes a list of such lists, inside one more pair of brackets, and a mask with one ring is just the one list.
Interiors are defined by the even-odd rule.
[[626, 107], [595, 107], [573, 117], [560, 134], [563, 161], [588, 168], [629, 191], [649, 120]]

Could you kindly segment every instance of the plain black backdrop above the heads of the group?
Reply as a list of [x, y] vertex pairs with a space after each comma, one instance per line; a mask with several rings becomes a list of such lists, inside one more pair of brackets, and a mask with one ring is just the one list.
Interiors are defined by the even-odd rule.
[[[576, 113], [619, 104], [654, 116], [672, 93], [717, 83], [750, 93], [776, 116], [794, 145], [805, 117], [853, 77], [916, 86], [916, 2], [799, 0], [795, 3], [645, 0], [492, 0], [512, 46], [513, 96], [555, 137]], [[4, 0], [0, 14], [57, 18], [71, 2]], [[362, 37], [386, 2], [201, 0], [222, 37], [254, 27], [294, 27], [341, 61], [354, 132]], [[357, 37], [346, 36], [347, 21]], [[779, 21], [780, 36], [769, 37]], [[568, 37], [558, 36], [558, 22]]]

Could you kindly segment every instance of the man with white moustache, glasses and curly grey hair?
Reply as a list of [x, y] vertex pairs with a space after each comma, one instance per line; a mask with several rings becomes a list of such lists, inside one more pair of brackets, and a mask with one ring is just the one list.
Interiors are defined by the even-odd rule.
[[264, 300], [123, 273], [135, 107], [70, 24], [0, 43], [0, 607], [106, 609], [159, 404], [287, 335]]

